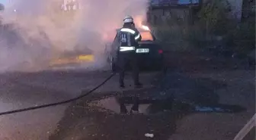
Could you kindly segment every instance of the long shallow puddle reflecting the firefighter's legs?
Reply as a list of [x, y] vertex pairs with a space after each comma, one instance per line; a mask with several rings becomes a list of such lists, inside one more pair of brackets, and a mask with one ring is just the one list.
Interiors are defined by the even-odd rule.
[[187, 113], [238, 113], [245, 107], [232, 104], [190, 104], [166, 98], [164, 100], [141, 99], [138, 97], [110, 97], [91, 101], [91, 107], [99, 107], [114, 114], [158, 114], [166, 111]]

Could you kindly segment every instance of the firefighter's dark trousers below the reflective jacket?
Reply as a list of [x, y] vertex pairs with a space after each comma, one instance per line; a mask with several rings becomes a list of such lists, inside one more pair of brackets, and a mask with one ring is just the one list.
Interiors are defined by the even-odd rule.
[[139, 66], [137, 64], [136, 54], [119, 54], [118, 65], [119, 65], [119, 83], [123, 85], [123, 79], [127, 66], [133, 68], [133, 82], [135, 85], [139, 84]]

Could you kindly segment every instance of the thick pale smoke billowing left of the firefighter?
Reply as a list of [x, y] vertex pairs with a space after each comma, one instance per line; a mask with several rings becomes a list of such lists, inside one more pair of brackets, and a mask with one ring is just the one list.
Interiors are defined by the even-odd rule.
[[114, 36], [126, 15], [145, 17], [147, 1], [83, 0], [75, 14], [60, 11], [62, 0], [12, 1], [1, 26], [0, 70], [46, 67], [63, 51], [82, 48], [102, 56], [105, 37]]

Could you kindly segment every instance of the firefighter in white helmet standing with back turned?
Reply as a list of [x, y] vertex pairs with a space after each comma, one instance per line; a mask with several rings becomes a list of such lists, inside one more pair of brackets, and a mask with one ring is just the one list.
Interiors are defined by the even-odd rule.
[[133, 68], [134, 86], [141, 88], [142, 84], [139, 82], [139, 66], [137, 64], [136, 48], [142, 37], [133, 23], [133, 17], [126, 16], [123, 19], [123, 27], [117, 33], [117, 37], [119, 43], [117, 48], [117, 64], [120, 74], [120, 88], [125, 88], [123, 79], [128, 64]]

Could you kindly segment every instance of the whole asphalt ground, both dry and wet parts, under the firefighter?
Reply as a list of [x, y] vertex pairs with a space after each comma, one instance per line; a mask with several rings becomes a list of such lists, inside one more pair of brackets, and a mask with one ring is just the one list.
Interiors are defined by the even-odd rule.
[[[0, 117], [0, 139], [232, 139], [256, 112], [254, 70], [142, 73], [145, 89], [125, 91], [117, 76], [75, 103]], [[2, 73], [0, 111], [73, 98], [110, 76], [107, 69]], [[154, 85], [154, 87], [152, 87]], [[136, 96], [135, 96], [136, 95]], [[142, 114], [120, 114], [139, 98]]]

